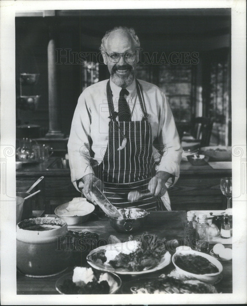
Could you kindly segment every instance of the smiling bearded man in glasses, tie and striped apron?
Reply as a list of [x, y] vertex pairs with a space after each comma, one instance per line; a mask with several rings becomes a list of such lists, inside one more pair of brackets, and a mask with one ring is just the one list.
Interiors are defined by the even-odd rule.
[[[139, 47], [133, 29], [116, 27], [103, 37], [111, 77], [79, 97], [68, 141], [71, 178], [89, 200], [95, 183], [118, 208], [165, 210], [182, 147], [164, 93], [135, 78]], [[146, 195], [130, 202], [130, 191]]]

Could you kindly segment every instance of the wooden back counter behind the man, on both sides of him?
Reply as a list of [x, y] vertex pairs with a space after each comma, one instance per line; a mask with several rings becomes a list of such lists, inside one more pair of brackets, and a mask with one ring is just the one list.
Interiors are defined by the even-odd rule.
[[[16, 171], [18, 192], [25, 192], [40, 176], [45, 177], [34, 189], [41, 189], [41, 192], [38, 197], [39, 203], [34, 204], [33, 210], [45, 210], [46, 213], [52, 214], [56, 206], [80, 196], [71, 183], [69, 169], [54, 166], [47, 170], [56, 159], [51, 157], [42, 163], [23, 165]], [[58, 158], [57, 161], [61, 159]], [[220, 178], [229, 176], [231, 169], [213, 169], [209, 164], [192, 166], [189, 162], [182, 161], [179, 180], [168, 191], [171, 209], [225, 209], [227, 199], [220, 191]]]

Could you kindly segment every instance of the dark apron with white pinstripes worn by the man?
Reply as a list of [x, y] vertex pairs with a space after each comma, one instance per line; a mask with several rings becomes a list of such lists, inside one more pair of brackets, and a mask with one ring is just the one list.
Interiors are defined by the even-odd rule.
[[[143, 100], [142, 90], [136, 80], [140, 100], [142, 121], [116, 121], [110, 82], [107, 83], [107, 99], [110, 113], [108, 146], [98, 177], [104, 182], [104, 193], [117, 208], [138, 207], [146, 210], [166, 210], [160, 197], [145, 196], [139, 201], [129, 202], [130, 191], [149, 192], [148, 183], [156, 173], [153, 159], [151, 126]], [[118, 150], [123, 139], [126, 146]], [[96, 169], [95, 169], [96, 170]]]

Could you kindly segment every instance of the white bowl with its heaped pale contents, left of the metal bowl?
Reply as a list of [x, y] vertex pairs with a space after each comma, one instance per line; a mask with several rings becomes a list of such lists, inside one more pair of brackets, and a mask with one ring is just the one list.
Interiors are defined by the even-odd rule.
[[85, 198], [73, 198], [72, 201], [56, 207], [54, 212], [68, 225], [74, 225], [86, 222], [94, 209], [94, 205]]

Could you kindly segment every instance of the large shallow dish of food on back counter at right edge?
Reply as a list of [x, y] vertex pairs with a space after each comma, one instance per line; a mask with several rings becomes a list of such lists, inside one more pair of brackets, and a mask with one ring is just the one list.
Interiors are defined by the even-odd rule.
[[212, 161], [227, 162], [231, 161], [231, 147], [211, 146], [202, 147], [200, 153], [210, 157]]

